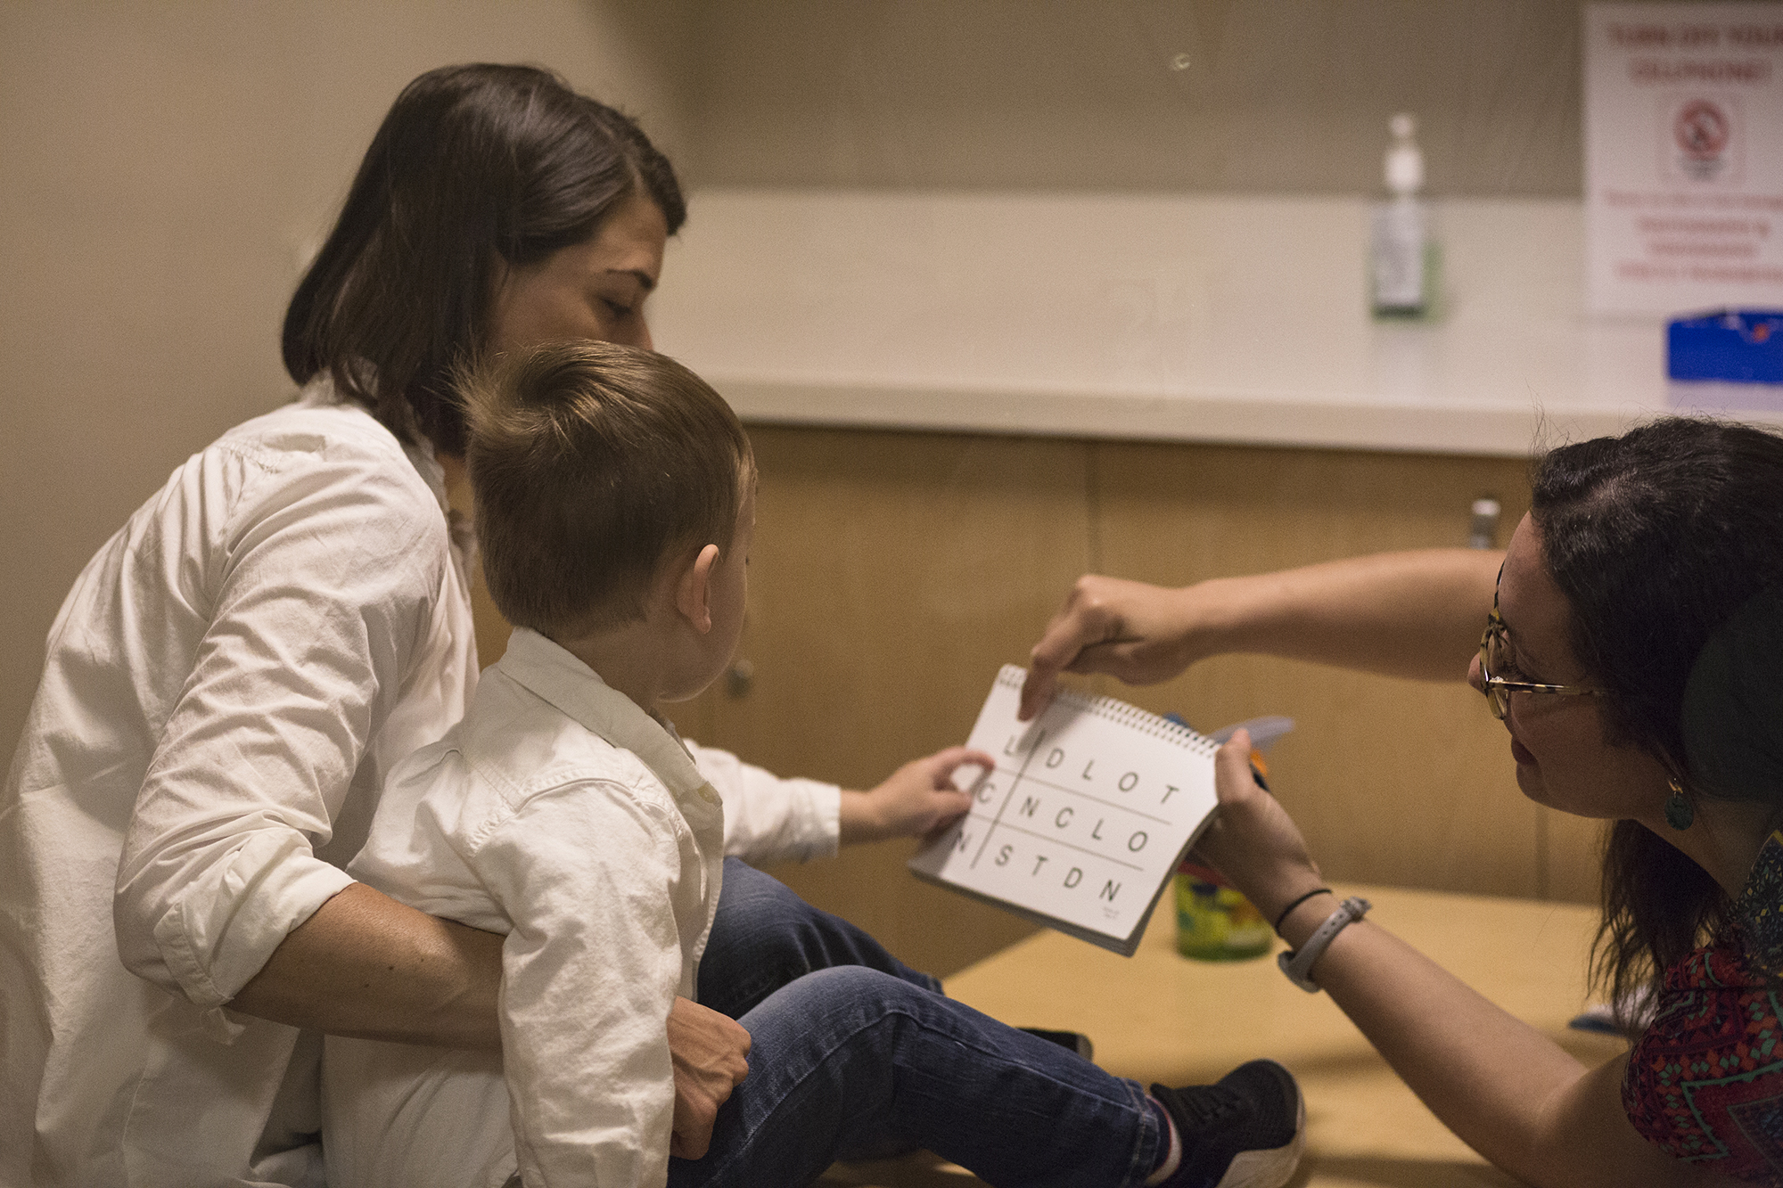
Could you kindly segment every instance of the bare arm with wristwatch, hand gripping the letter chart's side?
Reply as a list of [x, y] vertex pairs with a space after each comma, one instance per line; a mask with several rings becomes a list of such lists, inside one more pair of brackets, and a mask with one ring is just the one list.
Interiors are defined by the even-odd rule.
[[[1273, 919], [1319, 887], [1319, 869], [1300, 829], [1252, 778], [1248, 755], [1243, 731], [1220, 749], [1220, 813], [1198, 851]], [[1335, 908], [1328, 894], [1294, 908], [1282, 922], [1289, 947], [1303, 945]], [[1640, 1138], [1621, 1102], [1626, 1056], [1587, 1068], [1371, 920], [1337, 933], [1312, 978], [1432, 1113], [1528, 1184], [1733, 1183]]]

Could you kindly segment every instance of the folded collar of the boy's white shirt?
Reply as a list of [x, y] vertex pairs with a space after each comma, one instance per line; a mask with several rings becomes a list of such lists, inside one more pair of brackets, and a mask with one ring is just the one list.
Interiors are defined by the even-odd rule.
[[656, 772], [676, 799], [697, 796], [719, 804], [717, 790], [694, 765], [676, 728], [610, 687], [601, 674], [538, 631], [514, 628], [508, 651], [496, 662], [510, 680], [549, 701], [615, 747], [631, 751]]

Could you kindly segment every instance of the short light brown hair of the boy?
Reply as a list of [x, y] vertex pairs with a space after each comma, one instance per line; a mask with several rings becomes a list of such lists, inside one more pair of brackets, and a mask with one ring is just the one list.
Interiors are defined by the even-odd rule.
[[460, 378], [476, 539], [496, 606], [546, 637], [642, 619], [674, 553], [729, 553], [749, 437], [656, 351], [549, 342]]

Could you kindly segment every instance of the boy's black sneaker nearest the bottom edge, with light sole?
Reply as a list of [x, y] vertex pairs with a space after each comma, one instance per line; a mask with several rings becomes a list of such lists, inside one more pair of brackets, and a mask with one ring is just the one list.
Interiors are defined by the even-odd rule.
[[1170, 1188], [1282, 1188], [1307, 1142], [1307, 1106], [1294, 1076], [1253, 1060], [1218, 1085], [1152, 1086], [1182, 1138]]

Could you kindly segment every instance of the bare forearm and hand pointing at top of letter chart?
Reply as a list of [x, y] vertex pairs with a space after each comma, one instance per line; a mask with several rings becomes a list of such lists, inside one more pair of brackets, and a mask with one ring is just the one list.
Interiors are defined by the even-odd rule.
[[1059, 672], [1146, 685], [1234, 651], [1462, 680], [1501, 562], [1480, 549], [1378, 553], [1182, 589], [1086, 574], [1034, 644], [1022, 717], [1052, 699]]

